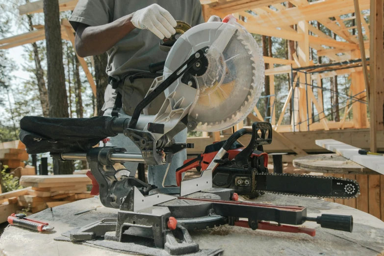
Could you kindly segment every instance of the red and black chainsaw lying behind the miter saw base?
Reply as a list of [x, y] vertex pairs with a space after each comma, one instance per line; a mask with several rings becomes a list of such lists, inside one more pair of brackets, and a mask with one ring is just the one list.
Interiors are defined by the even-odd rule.
[[[272, 142], [272, 126], [269, 123], [254, 123], [253, 126], [257, 131], [266, 128], [267, 138], [262, 140], [251, 129], [244, 128], [236, 131], [227, 141], [207, 146], [203, 154], [184, 161], [184, 165], [177, 169], [178, 185], [181, 184], [183, 173], [194, 168], [202, 171], [215, 165], [212, 169], [213, 187], [231, 188], [249, 199], [263, 193], [341, 199], [355, 198], [360, 194], [358, 182], [352, 179], [269, 173], [268, 154], [263, 152], [260, 141], [265, 144]], [[252, 134], [247, 147], [237, 140], [246, 134]], [[220, 151], [226, 153], [219, 159], [216, 156]]]

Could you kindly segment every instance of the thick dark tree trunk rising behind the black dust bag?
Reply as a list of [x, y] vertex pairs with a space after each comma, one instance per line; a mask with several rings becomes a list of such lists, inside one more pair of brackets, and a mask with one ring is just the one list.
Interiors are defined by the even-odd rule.
[[[47, 44], [47, 77], [50, 117], [65, 118], [68, 115], [68, 98], [65, 88], [63, 45], [58, 0], [43, 0], [44, 27]], [[53, 174], [73, 174], [73, 162], [61, 162], [53, 158]]]

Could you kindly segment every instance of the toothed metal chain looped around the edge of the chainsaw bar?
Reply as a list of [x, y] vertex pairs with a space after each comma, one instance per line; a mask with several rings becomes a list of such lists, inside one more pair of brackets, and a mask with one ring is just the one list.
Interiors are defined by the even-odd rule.
[[[345, 179], [345, 178], [336, 178], [336, 177], [327, 177], [327, 176], [314, 176], [314, 175], [301, 175], [301, 174], [288, 174], [288, 173], [255, 173], [256, 179], [257, 176], [283, 176], [283, 177], [296, 177], [296, 178], [312, 178], [312, 179], [332, 179], [332, 180], [341, 180], [341, 181], [347, 181], [351, 182], [356, 187], [356, 193], [355, 188], [353, 186], [353, 190], [347, 190], [347, 187], [345, 187], [345, 191], [348, 194], [354, 194], [353, 196], [324, 196], [324, 195], [310, 195], [310, 194], [297, 194], [297, 193], [285, 193], [285, 192], [274, 192], [269, 190], [255, 190], [258, 193], [271, 193], [271, 194], [279, 194], [279, 195], [291, 195], [291, 196], [301, 196], [301, 197], [316, 197], [316, 198], [332, 198], [332, 199], [353, 199], [357, 198], [360, 195], [360, 186], [356, 180], [352, 179]], [[346, 185], [348, 186], [348, 185]]]

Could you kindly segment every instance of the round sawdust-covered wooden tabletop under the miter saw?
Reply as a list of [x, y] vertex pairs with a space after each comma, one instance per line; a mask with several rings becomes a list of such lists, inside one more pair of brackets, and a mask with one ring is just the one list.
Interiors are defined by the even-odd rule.
[[[313, 222], [305, 223], [306, 227], [316, 228], [316, 236], [271, 231], [254, 231], [239, 227], [222, 226], [210, 230], [193, 231], [193, 239], [200, 248], [223, 248], [224, 255], [279, 255], [279, 256], [376, 256], [384, 252], [384, 222], [344, 205], [325, 202], [318, 199], [300, 198], [266, 194], [256, 202], [280, 205], [307, 206], [308, 216], [321, 213], [353, 215], [354, 231], [347, 233], [326, 230]], [[99, 206], [97, 211], [74, 216], [75, 212]], [[112, 217], [115, 209], [101, 206], [99, 199], [91, 198], [46, 209], [31, 215], [30, 218], [48, 221], [54, 226], [51, 233], [38, 233], [17, 227], [7, 227], [0, 238], [2, 255], [47, 255], [47, 256], [117, 256], [127, 255], [105, 251], [81, 244], [53, 240], [61, 233], [83, 226], [104, 217]]]

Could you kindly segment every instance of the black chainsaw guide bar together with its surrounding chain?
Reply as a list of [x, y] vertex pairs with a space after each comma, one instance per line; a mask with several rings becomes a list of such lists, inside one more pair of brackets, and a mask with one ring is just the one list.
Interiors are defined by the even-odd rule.
[[352, 199], [360, 195], [356, 180], [280, 173], [255, 173], [258, 193], [317, 198]]

